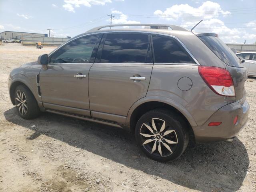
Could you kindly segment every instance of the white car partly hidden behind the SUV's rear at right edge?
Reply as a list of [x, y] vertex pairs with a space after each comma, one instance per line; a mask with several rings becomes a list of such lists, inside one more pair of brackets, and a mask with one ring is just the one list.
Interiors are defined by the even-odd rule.
[[244, 59], [244, 66], [248, 70], [248, 76], [256, 76], [256, 52], [241, 52], [236, 56]]

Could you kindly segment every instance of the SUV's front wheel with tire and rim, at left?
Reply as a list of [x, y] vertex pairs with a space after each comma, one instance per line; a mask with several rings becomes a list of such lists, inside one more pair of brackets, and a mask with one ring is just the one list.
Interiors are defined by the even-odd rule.
[[14, 94], [16, 110], [20, 117], [33, 119], [40, 115], [40, 109], [32, 92], [24, 85], [19, 85]]

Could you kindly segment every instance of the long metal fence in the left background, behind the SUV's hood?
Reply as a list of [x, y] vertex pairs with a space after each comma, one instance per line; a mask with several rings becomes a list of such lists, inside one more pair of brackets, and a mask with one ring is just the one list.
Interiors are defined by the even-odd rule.
[[25, 46], [35, 46], [38, 41], [44, 46], [60, 46], [68, 40], [70, 38], [22, 36], [22, 44]]

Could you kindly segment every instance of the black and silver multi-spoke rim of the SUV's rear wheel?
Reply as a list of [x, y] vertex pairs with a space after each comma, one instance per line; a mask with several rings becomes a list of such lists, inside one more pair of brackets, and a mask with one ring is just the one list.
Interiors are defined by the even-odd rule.
[[170, 124], [159, 118], [152, 118], [142, 124], [140, 140], [143, 147], [157, 157], [172, 155], [178, 145], [175, 130]]

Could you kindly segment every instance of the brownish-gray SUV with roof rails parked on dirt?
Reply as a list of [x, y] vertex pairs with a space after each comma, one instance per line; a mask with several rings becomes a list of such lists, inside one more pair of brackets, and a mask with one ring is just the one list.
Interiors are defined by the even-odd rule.
[[162, 162], [178, 158], [190, 139], [232, 141], [250, 108], [240, 59], [217, 34], [130, 25], [149, 27], [94, 28], [12, 70], [18, 114], [51, 112], [128, 129]]

